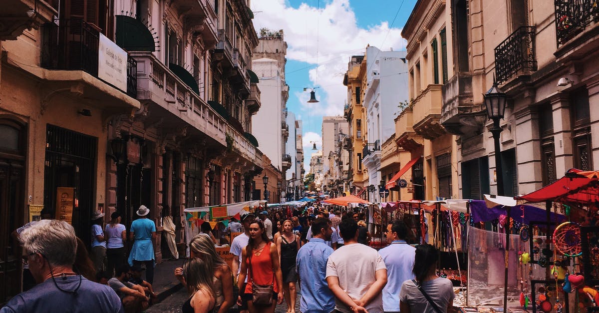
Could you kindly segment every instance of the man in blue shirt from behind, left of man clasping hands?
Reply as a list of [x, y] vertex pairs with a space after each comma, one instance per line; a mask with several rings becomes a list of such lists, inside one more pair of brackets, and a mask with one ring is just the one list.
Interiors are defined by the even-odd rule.
[[335, 297], [326, 283], [326, 260], [333, 249], [325, 241], [331, 240], [331, 234], [328, 219], [317, 218], [312, 223], [312, 239], [299, 248], [296, 269], [301, 282], [302, 313], [330, 313], [335, 309]]

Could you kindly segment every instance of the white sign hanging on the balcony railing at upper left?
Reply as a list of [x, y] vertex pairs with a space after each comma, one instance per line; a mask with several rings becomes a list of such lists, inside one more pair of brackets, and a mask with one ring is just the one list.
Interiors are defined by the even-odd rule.
[[100, 34], [98, 78], [127, 92], [127, 52]]

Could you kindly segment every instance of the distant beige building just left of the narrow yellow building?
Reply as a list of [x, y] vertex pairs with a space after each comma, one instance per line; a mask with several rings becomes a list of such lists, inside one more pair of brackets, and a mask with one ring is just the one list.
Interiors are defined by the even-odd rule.
[[[323, 186], [328, 191], [337, 189], [341, 181], [341, 172], [349, 169], [349, 164], [342, 164], [341, 171], [335, 164], [341, 159], [341, 154], [337, 154], [337, 143], [343, 141], [349, 136], [349, 124], [343, 116], [323, 116], [322, 118], [322, 157], [323, 157]], [[341, 149], [343, 157], [346, 157], [346, 151]], [[346, 161], [347, 162], [347, 161]]]

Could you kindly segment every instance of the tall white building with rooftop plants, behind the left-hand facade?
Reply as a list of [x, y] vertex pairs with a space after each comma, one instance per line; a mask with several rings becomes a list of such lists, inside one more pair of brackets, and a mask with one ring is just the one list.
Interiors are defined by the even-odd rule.
[[291, 168], [291, 157], [285, 149], [289, 138], [286, 121], [289, 86], [285, 83], [287, 43], [283, 40], [282, 30], [270, 32], [262, 29], [260, 35], [252, 67], [258, 75], [263, 109], [252, 118], [252, 134], [258, 139], [262, 152], [285, 177], [285, 172]]

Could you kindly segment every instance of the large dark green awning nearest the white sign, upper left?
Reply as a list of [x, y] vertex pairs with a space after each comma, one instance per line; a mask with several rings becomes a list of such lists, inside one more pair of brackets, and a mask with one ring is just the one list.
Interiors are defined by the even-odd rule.
[[116, 16], [116, 44], [127, 51], [156, 50], [154, 36], [144, 23], [131, 16]]

